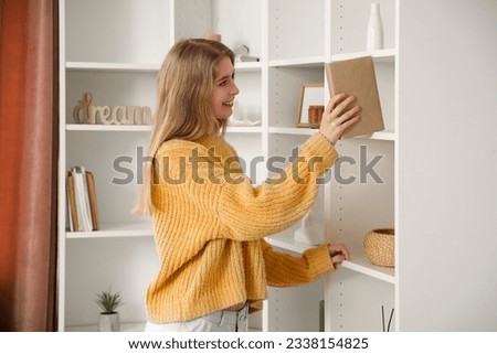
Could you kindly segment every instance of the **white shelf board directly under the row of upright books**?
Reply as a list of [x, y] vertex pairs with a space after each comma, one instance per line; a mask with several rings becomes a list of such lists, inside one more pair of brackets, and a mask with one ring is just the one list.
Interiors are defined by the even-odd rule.
[[95, 232], [67, 232], [66, 238], [101, 237], [149, 237], [154, 236], [151, 224], [147, 223], [103, 223]]

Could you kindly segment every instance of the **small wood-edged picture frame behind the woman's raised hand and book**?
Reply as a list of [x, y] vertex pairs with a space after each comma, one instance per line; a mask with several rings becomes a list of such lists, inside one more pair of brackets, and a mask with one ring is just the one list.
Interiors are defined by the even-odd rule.
[[[321, 83], [303, 83], [297, 107], [298, 128], [319, 128], [325, 106], [325, 85]], [[310, 116], [309, 116], [310, 114]]]

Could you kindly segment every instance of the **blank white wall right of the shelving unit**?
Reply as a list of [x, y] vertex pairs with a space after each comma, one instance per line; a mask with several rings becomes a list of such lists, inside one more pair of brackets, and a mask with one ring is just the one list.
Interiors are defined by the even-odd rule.
[[399, 329], [497, 330], [497, 1], [400, 1]]

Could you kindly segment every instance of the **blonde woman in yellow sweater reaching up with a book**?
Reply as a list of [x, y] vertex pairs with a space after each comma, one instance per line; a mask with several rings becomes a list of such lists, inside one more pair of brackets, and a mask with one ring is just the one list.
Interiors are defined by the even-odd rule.
[[308, 212], [316, 180], [337, 159], [334, 143], [360, 108], [346, 112], [353, 97], [334, 97], [299, 158], [254, 187], [223, 137], [239, 94], [233, 63], [220, 42], [186, 40], [159, 73], [154, 163], [146, 165], [136, 206], [154, 217], [160, 258], [147, 290], [147, 331], [245, 331], [247, 311], [262, 308], [267, 286], [314, 281], [349, 257], [342, 244], [293, 257], [264, 238]]

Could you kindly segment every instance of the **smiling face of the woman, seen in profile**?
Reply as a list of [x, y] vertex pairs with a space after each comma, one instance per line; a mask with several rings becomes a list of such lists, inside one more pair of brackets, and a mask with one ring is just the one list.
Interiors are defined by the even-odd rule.
[[228, 119], [233, 114], [233, 103], [240, 93], [234, 83], [234, 67], [230, 57], [223, 57], [218, 65], [218, 73], [214, 78], [214, 89], [212, 90], [211, 105], [215, 118]]

